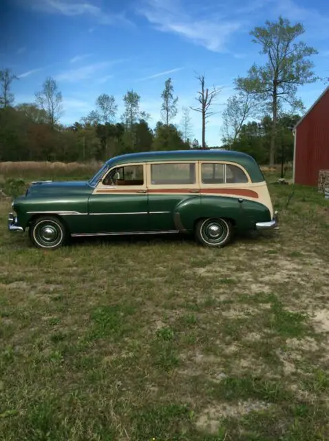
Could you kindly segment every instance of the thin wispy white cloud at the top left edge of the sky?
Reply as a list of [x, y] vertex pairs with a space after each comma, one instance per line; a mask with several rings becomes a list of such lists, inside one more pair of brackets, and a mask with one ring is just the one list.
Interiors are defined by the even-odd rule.
[[51, 14], [63, 14], [67, 17], [88, 15], [103, 25], [113, 25], [117, 23], [131, 22], [125, 17], [124, 13], [110, 13], [102, 10], [100, 6], [85, 1], [79, 3], [70, 0], [28, 0], [28, 5], [34, 10], [48, 12]]

